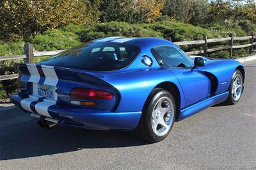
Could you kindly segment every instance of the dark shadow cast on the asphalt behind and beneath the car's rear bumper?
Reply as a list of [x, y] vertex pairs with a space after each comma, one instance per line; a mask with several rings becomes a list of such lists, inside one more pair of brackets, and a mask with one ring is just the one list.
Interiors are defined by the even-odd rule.
[[[26, 114], [19, 111], [20, 114]], [[17, 114], [17, 113], [16, 113]], [[0, 123], [3, 123], [1, 119]], [[86, 148], [118, 148], [148, 144], [131, 132], [95, 131], [56, 126], [40, 128], [36, 120], [0, 129], [0, 160], [38, 157]]]

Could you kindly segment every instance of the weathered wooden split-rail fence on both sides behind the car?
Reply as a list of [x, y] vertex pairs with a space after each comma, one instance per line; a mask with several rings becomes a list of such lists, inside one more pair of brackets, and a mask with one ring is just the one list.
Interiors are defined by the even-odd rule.
[[[234, 45], [234, 41], [236, 40], [250, 40], [250, 43], [244, 45]], [[241, 49], [249, 47], [249, 54], [253, 53], [253, 45], [256, 45], [256, 36], [253, 33], [250, 36], [242, 36], [242, 37], [235, 37], [232, 33], [228, 35], [226, 38], [213, 38], [207, 39], [207, 36], [204, 35], [204, 40], [196, 40], [196, 41], [186, 41], [186, 42], [174, 42], [175, 44], [182, 46], [182, 45], [203, 45], [204, 50], [198, 51], [189, 51], [186, 52], [188, 55], [204, 55], [207, 56], [207, 53], [214, 52], [218, 50], [230, 49], [230, 58], [232, 58], [233, 49]], [[208, 49], [208, 43], [215, 43], [215, 42], [228, 42], [228, 45], [216, 47], [212, 49]], [[24, 55], [17, 55], [17, 56], [0, 56], [0, 61], [5, 60], [13, 60], [13, 59], [24, 59], [24, 63], [33, 63], [34, 57], [38, 56], [52, 56], [62, 52], [63, 50], [54, 50], [54, 51], [41, 51], [41, 52], [33, 52], [33, 45], [26, 43], [24, 45]], [[19, 74], [11, 74], [11, 75], [0, 75], [0, 81], [16, 79]]]

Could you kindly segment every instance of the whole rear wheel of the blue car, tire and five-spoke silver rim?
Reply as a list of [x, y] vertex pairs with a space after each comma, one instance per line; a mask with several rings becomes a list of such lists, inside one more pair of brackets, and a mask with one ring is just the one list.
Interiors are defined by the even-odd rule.
[[162, 141], [172, 130], [175, 120], [175, 100], [168, 91], [156, 88], [143, 108], [137, 131], [149, 142]]

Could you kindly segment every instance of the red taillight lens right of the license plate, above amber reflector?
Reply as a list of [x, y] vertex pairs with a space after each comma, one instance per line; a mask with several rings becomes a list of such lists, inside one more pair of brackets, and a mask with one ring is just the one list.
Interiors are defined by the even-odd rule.
[[74, 88], [70, 91], [70, 98], [86, 100], [108, 100], [113, 94], [99, 89]]

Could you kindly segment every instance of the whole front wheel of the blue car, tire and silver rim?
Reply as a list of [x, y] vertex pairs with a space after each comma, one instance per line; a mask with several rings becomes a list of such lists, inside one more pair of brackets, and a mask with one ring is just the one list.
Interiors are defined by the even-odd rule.
[[227, 104], [236, 104], [242, 95], [243, 92], [243, 75], [239, 70], [236, 70], [232, 76], [232, 81], [228, 88], [229, 95], [226, 100]]

